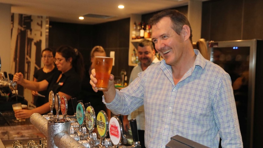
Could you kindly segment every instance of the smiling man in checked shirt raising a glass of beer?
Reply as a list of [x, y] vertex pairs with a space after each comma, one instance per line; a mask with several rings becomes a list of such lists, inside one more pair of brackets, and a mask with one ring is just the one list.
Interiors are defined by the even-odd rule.
[[[145, 146], [162, 147], [180, 135], [211, 148], [243, 147], [232, 83], [228, 73], [205, 60], [192, 46], [186, 16], [164, 10], [150, 21], [152, 41], [164, 60], [138, 74], [128, 87], [109, 90], [103, 102], [113, 114], [128, 115], [142, 104]], [[95, 92], [95, 70], [90, 76]]]

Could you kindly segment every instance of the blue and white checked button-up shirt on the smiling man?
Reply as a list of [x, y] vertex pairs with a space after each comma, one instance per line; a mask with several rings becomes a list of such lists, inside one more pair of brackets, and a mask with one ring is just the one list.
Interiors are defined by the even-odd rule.
[[195, 53], [193, 67], [176, 85], [171, 66], [162, 60], [105, 103], [123, 115], [144, 104], [147, 148], [165, 148], [174, 135], [211, 148], [218, 148], [220, 137], [223, 148], [243, 147], [229, 74]]

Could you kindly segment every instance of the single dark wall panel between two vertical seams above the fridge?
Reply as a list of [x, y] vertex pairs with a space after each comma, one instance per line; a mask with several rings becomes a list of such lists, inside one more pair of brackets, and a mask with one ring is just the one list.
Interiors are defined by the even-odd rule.
[[219, 0], [211, 2], [210, 40], [240, 40], [242, 26], [242, 5], [240, 0]]

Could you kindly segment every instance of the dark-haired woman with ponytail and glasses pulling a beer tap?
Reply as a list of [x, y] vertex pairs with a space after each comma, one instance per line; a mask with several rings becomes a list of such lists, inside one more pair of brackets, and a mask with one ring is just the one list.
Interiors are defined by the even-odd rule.
[[[80, 52], [70, 46], [60, 46], [56, 50], [55, 64], [58, 72], [40, 82], [29, 81], [23, 78], [22, 73], [16, 73], [13, 81], [30, 90], [51, 90], [59, 96], [65, 96], [69, 101], [77, 97], [81, 90], [81, 80], [84, 75], [84, 62]], [[29, 118], [33, 113], [45, 114], [49, 112], [48, 94], [45, 96], [45, 104], [32, 110], [17, 110], [17, 118]], [[72, 103], [68, 103], [68, 115], [73, 115]]]

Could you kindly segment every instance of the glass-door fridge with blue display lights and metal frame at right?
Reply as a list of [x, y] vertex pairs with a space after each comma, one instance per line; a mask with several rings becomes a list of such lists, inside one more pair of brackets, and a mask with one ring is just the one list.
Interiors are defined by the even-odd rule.
[[208, 52], [231, 77], [244, 148], [261, 147], [263, 41], [211, 41]]

